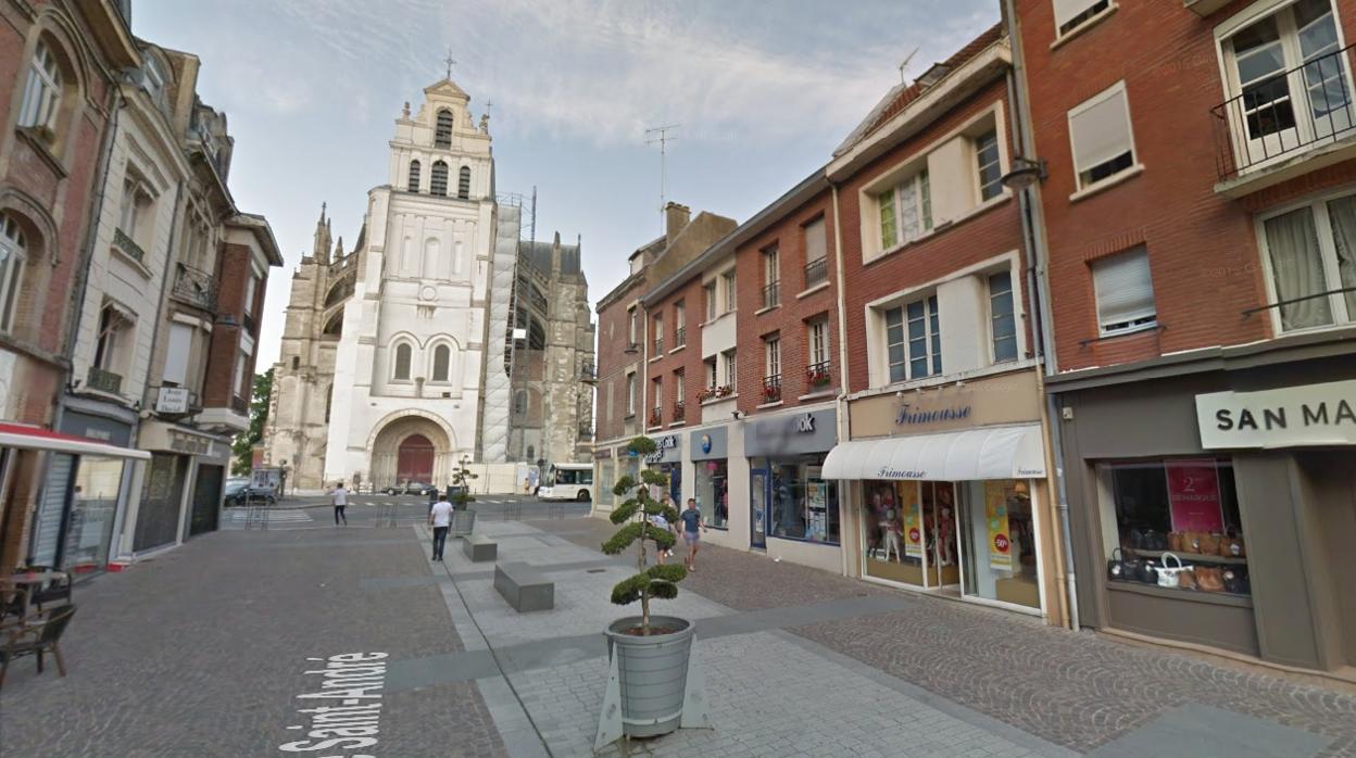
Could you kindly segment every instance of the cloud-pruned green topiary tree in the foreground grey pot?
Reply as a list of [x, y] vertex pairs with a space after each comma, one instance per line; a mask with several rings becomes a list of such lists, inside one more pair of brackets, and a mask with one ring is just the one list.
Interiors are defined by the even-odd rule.
[[[637, 437], [626, 446], [632, 454], [644, 458], [655, 452], [655, 441], [648, 437]], [[659, 529], [650, 522], [652, 515], [663, 515], [669, 523], [678, 522], [678, 508], [664, 506], [650, 496], [650, 487], [667, 487], [669, 477], [656, 471], [641, 471], [637, 483], [631, 476], [624, 475], [617, 480], [612, 492], [617, 498], [626, 498], [612, 511], [613, 523], [625, 523], [610, 540], [602, 544], [602, 552], [614, 556], [620, 555], [632, 542], [636, 549], [636, 575], [624, 579], [612, 589], [612, 602], [617, 605], [631, 605], [640, 601], [640, 628], [643, 636], [650, 636], [650, 599], [663, 598], [671, 601], [678, 597], [678, 582], [687, 576], [687, 570], [681, 565], [645, 565], [645, 541], [655, 544], [656, 549], [666, 551], [674, 546], [673, 532]], [[629, 495], [629, 496], [628, 496]]]

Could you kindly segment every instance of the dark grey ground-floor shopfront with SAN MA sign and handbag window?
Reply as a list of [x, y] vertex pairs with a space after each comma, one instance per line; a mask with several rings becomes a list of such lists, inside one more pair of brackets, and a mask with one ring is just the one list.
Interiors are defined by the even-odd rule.
[[1356, 355], [1230, 348], [1131, 377], [1048, 385], [1082, 624], [1356, 664]]

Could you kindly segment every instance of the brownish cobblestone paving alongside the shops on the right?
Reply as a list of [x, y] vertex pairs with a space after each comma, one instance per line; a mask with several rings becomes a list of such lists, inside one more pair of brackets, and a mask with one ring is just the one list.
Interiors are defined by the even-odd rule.
[[[563, 536], [597, 546], [605, 519]], [[533, 522], [546, 530], [560, 522]], [[906, 607], [789, 631], [833, 651], [1077, 751], [1090, 751], [1188, 704], [1204, 704], [1330, 738], [1321, 755], [1356, 755], [1356, 698], [1264, 673], [1216, 666], [1054, 629], [1033, 618], [896, 591], [704, 545], [682, 590], [739, 610], [892, 594]]]

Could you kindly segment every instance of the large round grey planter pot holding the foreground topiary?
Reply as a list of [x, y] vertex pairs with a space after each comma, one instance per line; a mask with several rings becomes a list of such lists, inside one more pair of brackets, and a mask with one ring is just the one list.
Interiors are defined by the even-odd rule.
[[679, 629], [637, 637], [622, 629], [640, 625], [639, 616], [614, 621], [603, 635], [607, 655], [617, 656], [621, 679], [622, 730], [629, 736], [664, 735], [678, 728], [687, 687], [687, 656], [696, 629], [692, 621], [651, 616], [651, 628]]

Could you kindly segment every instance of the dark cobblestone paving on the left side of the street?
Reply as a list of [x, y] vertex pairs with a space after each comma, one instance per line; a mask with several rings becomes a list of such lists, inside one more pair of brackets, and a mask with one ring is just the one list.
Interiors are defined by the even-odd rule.
[[[464, 650], [435, 584], [359, 586], [419, 574], [428, 556], [411, 529], [350, 527], [222, 532], [99, 576], [75, 591], [69, 675], [38, 677], [31, 658], [9, 667], [0, 755], [287, 755], [279, 744], [306, 739], [287, 727], [317, 702], [297, 700], [319, 692], [302, 674], [315, 659]], [[385, 693], [380, 715], [376, 755], [507, 754], [473, 682]]]

